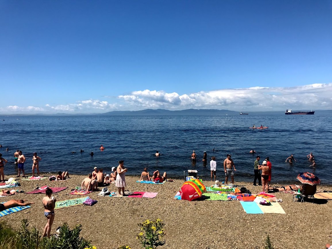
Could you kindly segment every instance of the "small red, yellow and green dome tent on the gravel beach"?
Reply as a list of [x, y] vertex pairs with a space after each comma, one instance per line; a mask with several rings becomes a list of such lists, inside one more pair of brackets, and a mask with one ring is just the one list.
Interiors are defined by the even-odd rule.
[[193, 201], [200, 198], [205, 191], [206, 188], [199, 179], [191, 179], [184, 182], [180, 189], [181, 200]]

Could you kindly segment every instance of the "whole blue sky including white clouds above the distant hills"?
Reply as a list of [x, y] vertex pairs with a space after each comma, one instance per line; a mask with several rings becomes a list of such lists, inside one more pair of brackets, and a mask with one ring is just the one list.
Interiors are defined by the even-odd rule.
[[3, 0], [0, 12], [1, 114], [332, 109], [331, 0]]

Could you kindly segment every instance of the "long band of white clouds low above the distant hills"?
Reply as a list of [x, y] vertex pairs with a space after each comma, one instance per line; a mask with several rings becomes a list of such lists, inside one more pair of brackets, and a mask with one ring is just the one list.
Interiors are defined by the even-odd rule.
[[[143, 109], [227, 109], [232, 111], [332, 110], [332, 83], [289, 88], [251, 87], [219, 89], [179, 95], [176, 92], [143, 90], [120, 95], [112, 103], [90, 99], [72, 104], [1, 107], [1, 114], [90, 114]], [[109, 97], [104, 96], [108, 99]]]

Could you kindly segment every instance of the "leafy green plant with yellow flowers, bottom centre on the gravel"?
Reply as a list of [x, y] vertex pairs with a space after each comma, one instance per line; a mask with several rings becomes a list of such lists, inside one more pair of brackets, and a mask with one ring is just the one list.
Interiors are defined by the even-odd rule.
[[163, 245], [165, 241], [162, 242], [161, 238], [165, 235], [164, 225], [165, 222], [159, 218], [155, 221], [147, 219], [142, 223], [138, 223], [141, 231], [136, 239], [140, 241], [145, 249], [154, 249], [158, 245]]

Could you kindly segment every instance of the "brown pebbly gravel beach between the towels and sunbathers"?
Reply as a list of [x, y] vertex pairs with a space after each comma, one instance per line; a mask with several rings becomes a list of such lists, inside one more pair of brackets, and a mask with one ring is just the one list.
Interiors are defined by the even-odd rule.
[[[9, 177], [15, 176], [7, 176]], [[58, 201], [74, 199], [80, 196], [69, 195], [71, 189], [81, 184], [85, 176], [71, 175], [66, 181], [17, 180], [25, 192], [36, 187], [68, 187], [54, 194]], [[286, 214], [246, 214], [239, 201], [178, 201], [175, 194], [183, 184], [183, 180], [174, 180], [162, 185], [136, 183], [139, 177], [126, 176], [126, 191], [158, 192], [154, 199], [149, 198], [114, 198], [101, 197], [93, 192], [89, 196], [98, 201], [94, 206], [74, 206], [55, 210], [52, 233], [56, 227], [67, 222], [69, 226], [82, 224], [81, 235], [92, 241], [97, 248], [117, 248], [127, 244], [131, 248], [141, 248], [135, 239], [139, 228], [138, 223], [145, 219], [161, 218], [165, 221], [165, 245], [160, 248], [202, 248], [231, 249], [255, 248], [262, 249], [267, 234], [276, 249], [317, 249], [324, 248], [325, 243], [332, 242], [332, 201], [314, 203], [298, 203], [292, 201], [291, 194], [276, 193], [283, 202], [280, 205]], [[293, 182], [294, 183], [294, 182]], [[289, 183], [289, 184], [293, 184]], [[298, 182], [297, 182], [298, 183]], [[204, 181], [206, 186], [212, 182]], [[253, 194], [261, 191], [261, 186], [252, 183], [236, 182]], [[278, 186], [278, 184], [273, 184]], [[115, 184], [108, 186], [117, 192]], [[101, 190], [101, 188], [100, 188]], [[332, 190], [332, 186], [318, 186], [317, 192]], [[27, 199], [35, 202], [31, 208], [16, 212], [0, 220], [7, 220], [13, 227], [20, 226], [21, 219], [28, 219], [30, 225], [36, 226], [41, 232], [46, 224], [41, 200], [44, 194], [28, 195], [20, 193], [2, 197], [1, 202], [10, 199]]]

